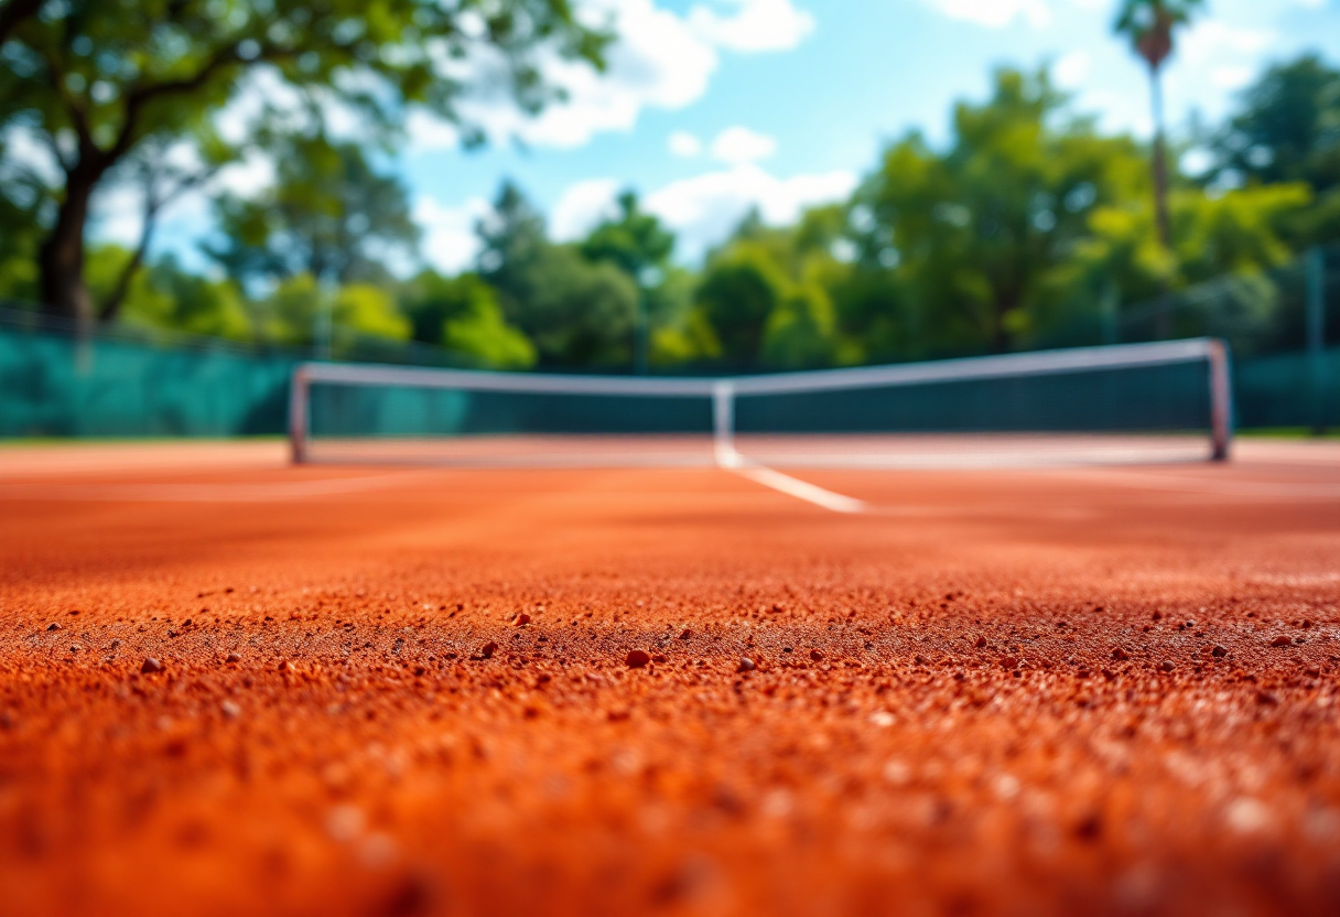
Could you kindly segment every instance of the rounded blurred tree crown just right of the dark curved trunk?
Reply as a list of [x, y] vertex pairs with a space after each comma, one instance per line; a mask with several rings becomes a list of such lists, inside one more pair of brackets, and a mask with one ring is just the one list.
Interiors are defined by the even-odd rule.
[[275, 184], [255, 197], [214, 201], [221, 241], [205, 252], [239, 280], [308, 273], [343, 286], [385, 280], [410, 257], [418, 227], [399, 178], [379, 174], [356, 143], [318, 135], [272, 141]]

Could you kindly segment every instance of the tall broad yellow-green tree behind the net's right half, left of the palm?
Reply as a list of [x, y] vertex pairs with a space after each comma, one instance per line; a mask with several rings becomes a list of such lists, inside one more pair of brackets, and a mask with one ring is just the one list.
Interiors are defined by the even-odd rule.
[[1055, 319], [1095, 210], [1130, 205], [1144, 176], [1138, 147], [1071, 117], [1045, 71], [1000, 71], [990, 99], [955, 106], [947, 149], [910, 134], [856, 194], [863, 282], [879, 265], [906, 291], [890, 300], [904, 310], [888, 320], [895, 346], [929, 357], [1026, 345]]

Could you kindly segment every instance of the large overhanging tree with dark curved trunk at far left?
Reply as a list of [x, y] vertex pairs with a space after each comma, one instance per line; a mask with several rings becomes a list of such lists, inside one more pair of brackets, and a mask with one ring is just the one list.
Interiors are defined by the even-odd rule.
[[[21, 8], [8, 0], [3, 11]], [[269, 74], [318, 114], [338, 103], [391, 127], [426, 107], [460, 121], [456, 103], [466, 87], [446, 62], [488, 48], [505, 64], [512, 95], [536, 110], [555, 95], [540, 60], [600, 66], [606, 40], [578, 21], [568, 0], [48, 4], [17, 19], [0, 46], [0, 129], [31, 129], [60, 172], [39, 252], [43, 304], [92, 320], [83, 260], [94, 193], [147, 138], [180, 135], [218, 114], [249, 76]]]

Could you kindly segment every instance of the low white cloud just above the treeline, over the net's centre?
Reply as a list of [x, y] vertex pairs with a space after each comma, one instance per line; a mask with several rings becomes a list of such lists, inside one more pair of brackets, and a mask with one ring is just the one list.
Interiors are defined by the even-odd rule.
[[807, 206], [847, 197], [856, 181], [852, 172], [777, 178], [744, 164], [674, 181], [647, 194], [643, 206], [675, 231], [678, 255], [694, 260], [724, 240], [750, 208], [768, 223], [791, 223]]

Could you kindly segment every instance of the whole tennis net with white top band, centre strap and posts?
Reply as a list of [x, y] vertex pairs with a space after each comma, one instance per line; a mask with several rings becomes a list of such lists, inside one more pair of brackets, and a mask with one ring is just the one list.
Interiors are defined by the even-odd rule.
[[295, 461], [953, 468], [1225, 458], [1227, 351], [1195, 339], [734, 378], [304, 363]]

